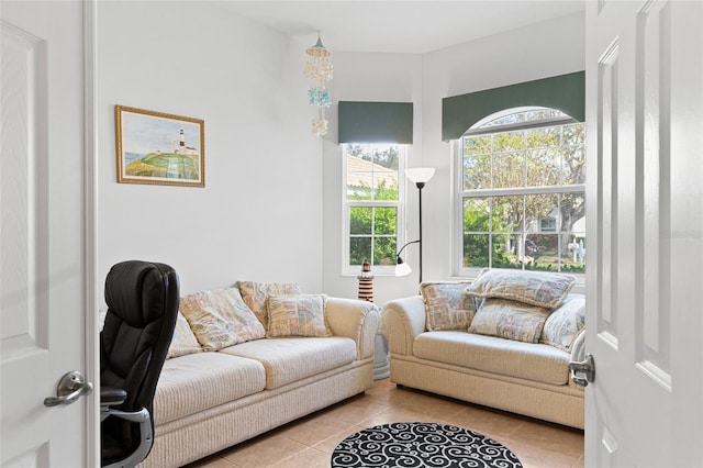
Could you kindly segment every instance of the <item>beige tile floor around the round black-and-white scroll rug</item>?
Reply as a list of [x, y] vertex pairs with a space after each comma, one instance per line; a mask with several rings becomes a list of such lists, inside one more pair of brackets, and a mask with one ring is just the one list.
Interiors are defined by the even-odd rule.
[[347, 435], [377, 424], [427, 421], [455, 424], [509, 447], [525, 468], [583, 467], [583, 432], [490, 410], [377, 380], [354, 397], [256, 438], [203, 458], [188, 468], [330, 467]]

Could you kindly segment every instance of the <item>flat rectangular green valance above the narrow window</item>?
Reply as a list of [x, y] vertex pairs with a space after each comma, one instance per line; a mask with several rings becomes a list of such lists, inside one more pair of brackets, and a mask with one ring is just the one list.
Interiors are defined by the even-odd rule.
[[413, 143], [412, 102], [339, 101], [339, 143]]

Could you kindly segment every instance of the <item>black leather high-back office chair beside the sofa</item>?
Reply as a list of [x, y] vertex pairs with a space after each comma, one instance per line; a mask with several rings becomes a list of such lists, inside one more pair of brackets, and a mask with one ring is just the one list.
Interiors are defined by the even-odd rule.
[[100, 332], [103, 467], [134, 467], [152, 450], [154, 393], [178, 301], [178, 275], [168, 265], [130, 260], [108, 274]]

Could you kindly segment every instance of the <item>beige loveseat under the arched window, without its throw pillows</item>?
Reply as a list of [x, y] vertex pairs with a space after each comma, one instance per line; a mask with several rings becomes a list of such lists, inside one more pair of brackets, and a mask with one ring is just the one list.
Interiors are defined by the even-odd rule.
[[567, 352], [466, 328], [428, 331], [421, 296], [383, 305], [392, 382], [583, 428], [583, 389], [571, 382], [568, 366], [583, 359], [584, 328]]

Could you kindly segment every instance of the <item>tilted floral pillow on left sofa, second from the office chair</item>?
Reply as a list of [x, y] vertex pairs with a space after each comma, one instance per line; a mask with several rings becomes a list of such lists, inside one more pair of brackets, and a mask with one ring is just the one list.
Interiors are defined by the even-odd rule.
[[180, 298], [180, 311], [204, 350], [217, 350], [266, 336], [264, 325], [236, 288]]

